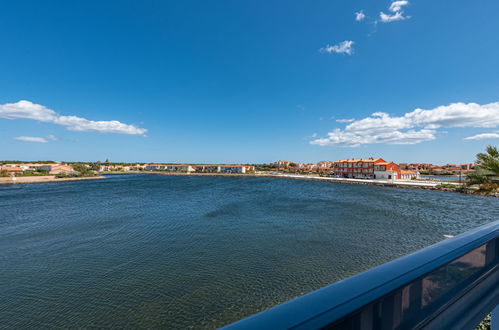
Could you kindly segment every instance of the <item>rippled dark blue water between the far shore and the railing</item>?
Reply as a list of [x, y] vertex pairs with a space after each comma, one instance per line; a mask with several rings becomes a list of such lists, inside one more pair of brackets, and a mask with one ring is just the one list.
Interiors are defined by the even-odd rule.
[[276, 178], [0, 186], [0, 327], [217, 327], [499, 218], [499, 199]]

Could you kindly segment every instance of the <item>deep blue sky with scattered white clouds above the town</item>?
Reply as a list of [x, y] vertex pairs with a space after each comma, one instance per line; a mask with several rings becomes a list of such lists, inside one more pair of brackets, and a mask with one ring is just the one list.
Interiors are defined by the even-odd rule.
[[494, 0], [3, 2], [0, 159], [471, 162], [499, 141], [497, 12]]

